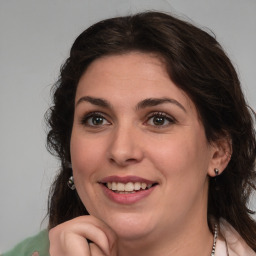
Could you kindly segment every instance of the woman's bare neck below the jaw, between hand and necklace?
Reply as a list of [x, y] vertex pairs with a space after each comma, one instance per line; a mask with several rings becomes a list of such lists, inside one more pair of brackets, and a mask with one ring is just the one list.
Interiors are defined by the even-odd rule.
[[[207, 186], [204, 188], [207, 191]], [[210, 256], [213, 246], [213, 234], [207, 221], [207, 197], [192, 204], [184, 215], [174, 216], [157, 226], [147, 235], [139, 238], [122, 239], [117, 243], [118, 256]]]

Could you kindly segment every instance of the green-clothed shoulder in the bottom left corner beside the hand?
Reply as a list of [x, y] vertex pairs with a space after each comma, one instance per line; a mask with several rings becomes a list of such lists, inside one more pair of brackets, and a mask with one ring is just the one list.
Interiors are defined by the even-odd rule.
[[1, 256], [49, 256], [48, 231], [29, 237]]

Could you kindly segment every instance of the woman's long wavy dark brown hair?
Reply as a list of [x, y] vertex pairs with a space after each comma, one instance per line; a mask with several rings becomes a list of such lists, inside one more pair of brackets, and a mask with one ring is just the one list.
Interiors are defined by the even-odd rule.
[[217, 185], [214, 179], [209, 181], [208, 216], [226, 219], [256, 251], [256, 223], [247, 208], [256, 179], [255, 114], [250, 113], [236, 71], [215, 38], [159, 12], [107, 19], [75, 40], [47, 114], [48, 149], [61, 161], [49, 195], [49, 228], [88, 214], [76, 191], [67, 187], [78, 81], [95, 59], [130, 51], [164, 59], [170, 79], [195, 103], [209, 142], [223, 136], [231, 139], [233, 154], [227, 168], [217, 177]]

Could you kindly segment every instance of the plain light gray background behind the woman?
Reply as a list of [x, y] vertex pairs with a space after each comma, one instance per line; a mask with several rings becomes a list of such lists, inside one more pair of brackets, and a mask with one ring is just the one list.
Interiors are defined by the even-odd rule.
[[0, 252], [46, 227], [58, 163], [45, 149], [43, 115], [72, 42], [100, 19], [148, 9], [213, 30], [256, 109], [255, 0], [0, 0]]

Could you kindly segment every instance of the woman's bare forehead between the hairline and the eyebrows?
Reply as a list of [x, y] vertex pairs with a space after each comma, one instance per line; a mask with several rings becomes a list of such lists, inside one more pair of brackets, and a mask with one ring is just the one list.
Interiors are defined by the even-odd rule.
[[81, 96], [113, 100], [114, 95], [122, 100], [169, 96], [194, 107], [170, 79], [164, 61], [156, 54], [130, 52], [93, 61], [78, 83], [76, 101]]

